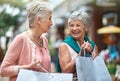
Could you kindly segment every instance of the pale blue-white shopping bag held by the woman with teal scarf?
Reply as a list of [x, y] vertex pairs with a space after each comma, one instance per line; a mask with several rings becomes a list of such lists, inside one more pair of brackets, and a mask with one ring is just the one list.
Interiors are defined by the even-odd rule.
[[91, 57], [77, 57], [76, 71], [78, 81], [112, 81], [104, 60], [100, 56], [94, 60]]

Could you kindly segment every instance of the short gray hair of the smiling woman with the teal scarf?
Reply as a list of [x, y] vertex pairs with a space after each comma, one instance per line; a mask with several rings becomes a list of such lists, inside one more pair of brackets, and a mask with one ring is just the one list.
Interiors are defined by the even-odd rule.
[[89, 16], [85, 11], [81, 11], [81, 10], [74, 11], [68, 18], [68, 23], [77, 19], [82, 21], [85, 26], [87, 26], [89, 23]]

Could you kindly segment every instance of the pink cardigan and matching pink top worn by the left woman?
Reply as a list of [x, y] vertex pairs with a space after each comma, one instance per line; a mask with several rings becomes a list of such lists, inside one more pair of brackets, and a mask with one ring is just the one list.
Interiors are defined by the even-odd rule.
[[[15, 37], [10, 44], [3, 62], [0, 67], [2, 77], [9, 77], [10, 81], [16, 81], [18, 75], [18, 67], [20, 65], [30, 64], [36, 60], [40, 60], [42, 66], [49, 71], [50, 53], [48, 49], [48, 41], [45, 36], [43, 39], [43, 47], [38, 48], [26, 35], [21, 33]], [[43, 71], [42, 69], [40, 71]]]

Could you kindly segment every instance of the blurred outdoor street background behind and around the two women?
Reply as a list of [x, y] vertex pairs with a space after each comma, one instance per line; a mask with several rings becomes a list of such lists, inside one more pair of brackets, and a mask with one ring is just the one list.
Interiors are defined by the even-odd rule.
[[[30, 1], [0, 0], [0, 63], [13, 38], [28, 28], [26, 6]], [[43, 1], [48, 1], [53, 9], [53, 26], [47, 34], [52, 72], [57, 72], [59, 44], [69, 35], [67, 19], [73, 11], [81, 9], [90, 16], [88, 36], [97, 44], [114, 81], [116, 71], [120, 72], [120, 0]]]

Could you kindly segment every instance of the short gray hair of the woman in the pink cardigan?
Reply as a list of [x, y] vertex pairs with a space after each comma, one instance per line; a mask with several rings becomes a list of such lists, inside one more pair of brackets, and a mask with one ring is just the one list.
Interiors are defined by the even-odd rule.
[[35, 17], [38, 15], [40, 15], [42, 19], [44, 19], [48, 14], [48, 11], [51, 11], [51, 9], [47, 2], [45, 1], [40, 2], [39, 0], [32, 1], [27, 6], [27, 16], [29, 23], [33, 23]]

